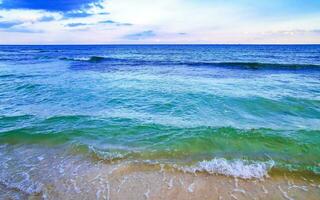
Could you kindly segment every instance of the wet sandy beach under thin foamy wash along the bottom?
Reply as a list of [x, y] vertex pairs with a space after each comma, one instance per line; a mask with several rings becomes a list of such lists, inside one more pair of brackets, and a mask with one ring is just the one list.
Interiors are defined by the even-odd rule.
[[[30, 149], [18, 149], [26, 156]], [[39, 149], [36, 149], [39, 151]], [[320, 177], [271, 170], [256, 179], [189, 173], [162, 164], [111, 162], [63, 156], [37, 156], [36, 167], [15, 172], [16, 181], [0, 184], [4, 199], [309, 199], [320, 195]], [[27, 158], [27, 157], [26, 157]], [[23, 173], [22, 173], [23, 174]], [[22, 180], [23, 179], [23, 180]], [[12, 180], [10, 180], [12, 181]], [[29, 184], [28, 184], [29, 183]]]

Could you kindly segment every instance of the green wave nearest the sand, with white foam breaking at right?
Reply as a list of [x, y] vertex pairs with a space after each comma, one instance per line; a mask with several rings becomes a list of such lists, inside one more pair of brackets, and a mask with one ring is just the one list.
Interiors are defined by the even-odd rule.
[[71, 151], [97, 160], [198, 162], [184, 170], [242, 178], [265, 176], [273, 166], [268, 160], [274, 160], [275, 167], [284, 170], [320, 172], [319, 130], [182, 128], [80, 115], [42, 120], [23, 115], [1, 116], [1, 125], [0, 144], [66, 145]]

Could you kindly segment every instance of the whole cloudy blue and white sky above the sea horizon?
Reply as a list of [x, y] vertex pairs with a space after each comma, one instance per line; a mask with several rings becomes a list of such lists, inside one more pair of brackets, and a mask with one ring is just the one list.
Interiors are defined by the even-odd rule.
[[320, 44], [320, 0], [0, 0], [0, 44]]

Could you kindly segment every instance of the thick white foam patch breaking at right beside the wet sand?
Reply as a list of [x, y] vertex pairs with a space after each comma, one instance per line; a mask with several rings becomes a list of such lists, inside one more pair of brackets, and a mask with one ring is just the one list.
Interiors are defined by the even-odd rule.
[[210, 174], [222, 174], [243, 179], [260, 179], [268, 175], [268, 171], [273, 165], [274, 161], [272, 160], [267, 162], [249, 162], [246, 160], [214, 158], [209, 161], [201, 161], [194, 166], [179, 167], [179, 169], [191, 173], [207, 172]]

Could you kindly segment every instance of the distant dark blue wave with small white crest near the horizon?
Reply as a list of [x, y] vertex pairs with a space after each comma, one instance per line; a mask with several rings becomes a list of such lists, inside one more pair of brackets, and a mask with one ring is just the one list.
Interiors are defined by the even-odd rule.
[[313, 69], [320, 70], [320, 65], [317, 64], [291, 64], [291, 63], [263, 63], [263, 62], [187, 62], [187, 61], [163, 61], [163, 60], [143, 60], [143, 59], [124, 59], [124, 58], [112, 58], [104, 56], [90, 56], [90, 57], [75, 57], [75, 58], [60, 58], [66, 61], [76, 62], [117, 62], [116, 64], [138, 66], [138, 65], [152, 65], [152, 66], [170, 66], [170, 65], [185, 65], [194, 67], [224, 67], [224, 68], [238, 68], [238, 69]]

